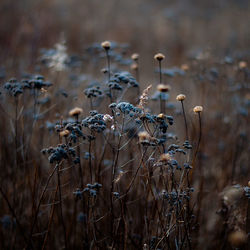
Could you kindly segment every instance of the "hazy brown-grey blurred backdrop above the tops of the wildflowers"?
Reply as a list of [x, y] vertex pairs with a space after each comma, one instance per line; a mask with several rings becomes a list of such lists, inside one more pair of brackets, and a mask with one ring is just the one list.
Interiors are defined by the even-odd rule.
[[0, 15], [5, 67], [6, 60], [17, 67], [20, 57], [22, 67], [33, 66], [39, 49], [62, 34], [71, 53], [114, 40], [129, 43], [145, 63], [157, 51], [177, 64], [201, 49], [246, 53], [250, 43], [248, 0], [1, 0]]

